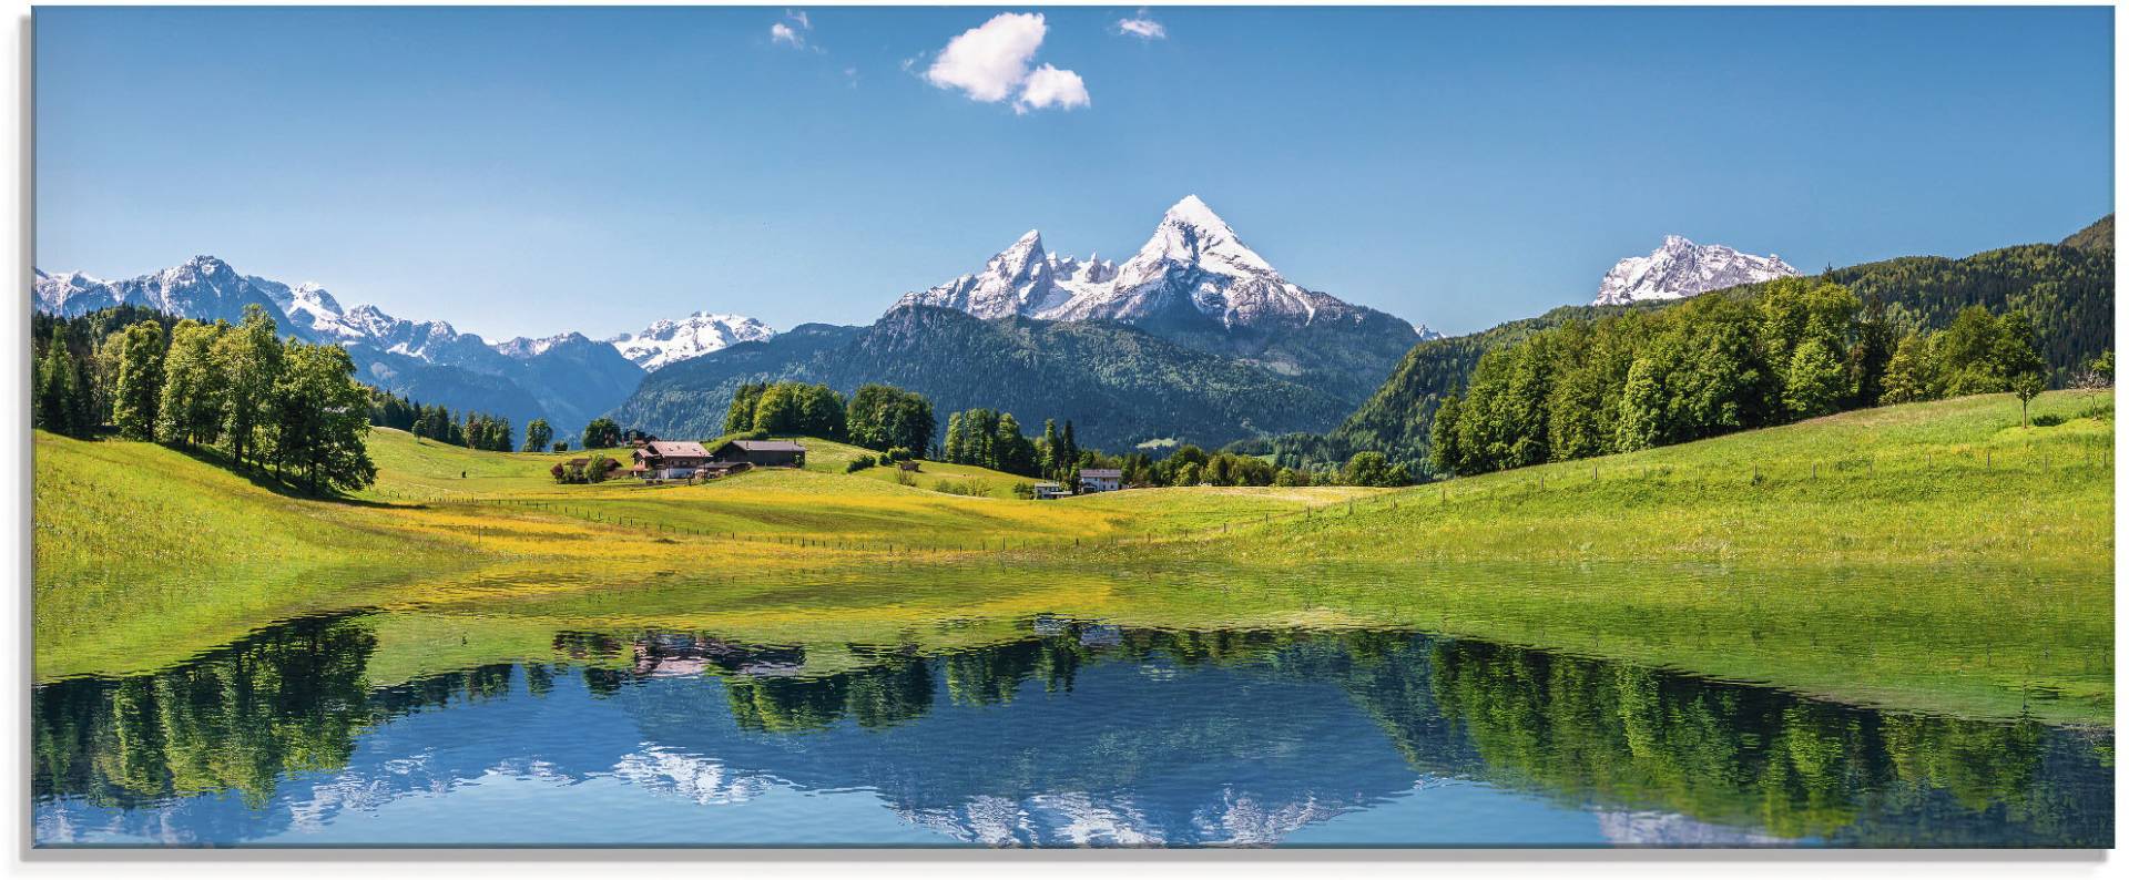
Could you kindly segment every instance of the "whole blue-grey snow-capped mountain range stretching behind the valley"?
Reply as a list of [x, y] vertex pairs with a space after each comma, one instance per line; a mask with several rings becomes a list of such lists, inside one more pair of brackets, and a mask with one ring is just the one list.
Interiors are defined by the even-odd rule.
[[[2110, 259], [2110, 223], [2037, 247], [2080, 255], [2106, 247]], [[2008, 266], [1988, 257], [1908, 257], [1835, 274], [1859, 291], [1884, 289], [1920, 323], [1948, 321], [1948, 310], [1976, 295], [2003, 306], [2006, 295], [2063, 289], [2031, 287], [2061, 274], [2027, 266], [2042, 255], [2020, 251]], [[2093, 259], [2101, 257], [2072, 264]], [[1916, 272], [1974, 278], [1937, 291], [1944, 285], [1918, 285]], [[126, 281], [36, 272], [34, 298], [60, 315], [136, 304], [207, 321], [234, 321], [260, 304], [290, 334], [349, 349], [364, 383], [519, 425], [545, 417], [560, 436], [600, 414], [660, 436], [713, 436], [741, 383], [790, 378], [845, 393], [864, 383], [901, 385], [930, 395], [941, 419], [971, 406], [1016, 412], [1024, 425], [1069, 419], [1084, 442], [1105, 449], [1224, 444], [1328, 431], [1343, 421], [1335, 438], [1409, 451], [1424, 444], [1426, 402], [1463, 380], [1480, 353], [1529, 329], [1795, 274], [1780, 257], [1667, 236], [1650, 255], [1618, 261], [1592, 306], [1441, 338], [1288, 281], [1188, 196], [1122, 261], [1054, 253], [1030, 230], [979, 270], [905, 293], [862, 327], [809, 323], [777, 334], [749, 317], [700, 310], [607, 340], [568, 332], [488, 342], [445, 321], [343, 308], [319, 285], [247, 276], [215, 257]], [[2082, 291], [2089, 272], [2074, 274]], [[1974, 285], [1988, 289], [1961, 293]], [[2065, 340], [2048, 353], [2057, 368], [2084, 357], [2101, 336], [2086, 327], [2086, 300], [2065, 300], [2076, 315], [2057, 315], [2065, 327], [2044, 327], [2050, 340]], [[2074, 336], [2065, 336], [2069, 327]]]

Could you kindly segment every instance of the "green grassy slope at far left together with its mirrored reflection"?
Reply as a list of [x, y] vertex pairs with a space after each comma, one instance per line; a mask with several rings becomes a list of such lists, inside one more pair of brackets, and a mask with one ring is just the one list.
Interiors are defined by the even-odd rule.
[[349, 580], [456, 557], [447, 538], [381, 527], [377, 510], [287, 497], [153, 444], [36, 434], [34, 455], [40, 667], [219, 644], [317, 602], [362, 602]]

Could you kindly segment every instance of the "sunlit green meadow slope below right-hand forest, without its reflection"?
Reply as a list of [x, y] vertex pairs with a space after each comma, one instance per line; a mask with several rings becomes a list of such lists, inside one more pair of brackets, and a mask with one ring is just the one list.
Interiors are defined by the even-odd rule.
[[[1844, 412], [1414, 487], [1282, 521], [1243, 559], [2112, 563], [2114, 406], [2057, 391]], [[1228, 548], [1222, 548], [1228, 551]]]

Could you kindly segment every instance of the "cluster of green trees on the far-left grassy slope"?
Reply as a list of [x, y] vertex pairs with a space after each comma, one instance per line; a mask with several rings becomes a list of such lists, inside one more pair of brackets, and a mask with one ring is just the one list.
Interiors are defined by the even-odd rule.
[[334, 344], [283, 340], [260, 306], [234, 325], [138, 308], [38, 317], [32, 355], [32, 423], [47, 431], [111, 425], [128, 440], [209, 446], [311, 491], [377, 478], [362, 444], [370, 397], [353, 359]]

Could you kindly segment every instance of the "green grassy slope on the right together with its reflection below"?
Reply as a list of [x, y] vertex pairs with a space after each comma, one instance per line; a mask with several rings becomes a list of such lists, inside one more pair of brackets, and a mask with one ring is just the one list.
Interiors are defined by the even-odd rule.
[[[2050, 393], [2033, 414], [2020, 427], [2008, 395], [1848, 412], [1416, 487], [1118, 563], [1265, 572], [1222, 582], [1231, 610], [1314, 606], [1850, 701], [2110, 723], [2112, 397]], [[1280, 587], [1299, 559], [1322, 570], [1307, 595]]]

